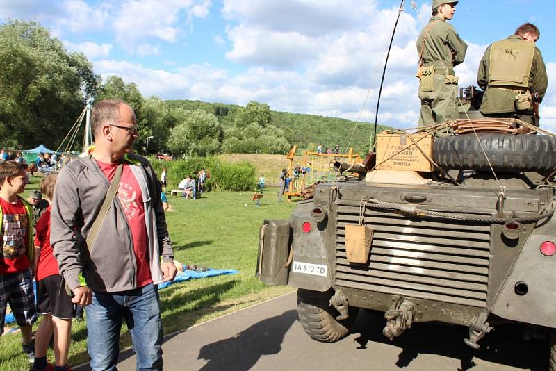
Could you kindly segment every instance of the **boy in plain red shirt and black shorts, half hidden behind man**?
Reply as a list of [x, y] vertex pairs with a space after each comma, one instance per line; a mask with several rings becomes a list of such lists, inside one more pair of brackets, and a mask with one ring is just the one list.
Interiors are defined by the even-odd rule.
[[[49, 204], [54, 195], [57, 174], [44, 176], [40, 191]], [[35, 256], [37, 260], [37, 311], [44, 318], [35, 333], [35, 362], [33, 371], [52, 370], [47, 364], [47, 348], [54, 333], [54, 358], [56, 371], [70, 370], [67, 354], [70, 352], [74, 304], [63, 288], [58, 272], [58, 262], [50, 245], [50, 209], [41, 215], [35, 233]]]

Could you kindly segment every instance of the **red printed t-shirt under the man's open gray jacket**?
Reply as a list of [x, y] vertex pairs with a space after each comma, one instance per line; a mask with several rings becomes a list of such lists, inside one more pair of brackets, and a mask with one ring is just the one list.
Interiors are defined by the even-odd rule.
[[[100, 169], [112, 181], [116, 174], [118, 163], [101, 163], [97, 160]], [[139, 183], [131, 172], [131, 167], [124, 163], [120, 186], [117, 188], [117, 198], [124, 209], [127, 224], [131, 230], [133, 240], [133, 252], [137, 264], [137, 284], [138, 287], [152, 283], [151, 269], [147, 253], [147, 227], [145, 226], [145, 206], [143, 206], [143, 196]]]

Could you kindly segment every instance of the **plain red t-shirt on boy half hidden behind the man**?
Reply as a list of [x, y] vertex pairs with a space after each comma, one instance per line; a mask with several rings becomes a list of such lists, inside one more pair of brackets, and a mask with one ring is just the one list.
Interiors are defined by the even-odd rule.
[[58, 262], [54, 258], [54, 252], [50, 246], [50, 209], [40, 215], [35, 226], [35, 247], [40, 247], [40, 255], [37, 261], [37, 281], [44, 277], [60, 274], [58, 271]]

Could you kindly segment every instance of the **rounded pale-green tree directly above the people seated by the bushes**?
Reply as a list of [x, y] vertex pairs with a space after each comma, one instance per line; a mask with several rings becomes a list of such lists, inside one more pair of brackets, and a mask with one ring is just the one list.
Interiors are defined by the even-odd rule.
[[168, 147], [174, 154], [208, 156], [217, 154], [222, 145], [222, 126], [215, 115], [204, 110], [172, 112], [177, 124], [170, 133]]

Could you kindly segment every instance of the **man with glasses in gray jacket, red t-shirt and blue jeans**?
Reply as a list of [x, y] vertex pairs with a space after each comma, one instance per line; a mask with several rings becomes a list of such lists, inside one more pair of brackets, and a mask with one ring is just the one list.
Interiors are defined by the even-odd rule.
[[[51, 213], [51, 245], [60, 273], [86, 306], [92, 370], [115, 370], [125, 319], [138, 370], [162, 370], [162, 321], [156, 284], [176, 275], [161, 190], [149, 162], [131, 153], [135, 113], [120, 100], [92, 110], [95, 146], [60, 171]], [[92, 246], [86, 245], [119, 165], [117, 193]]]

